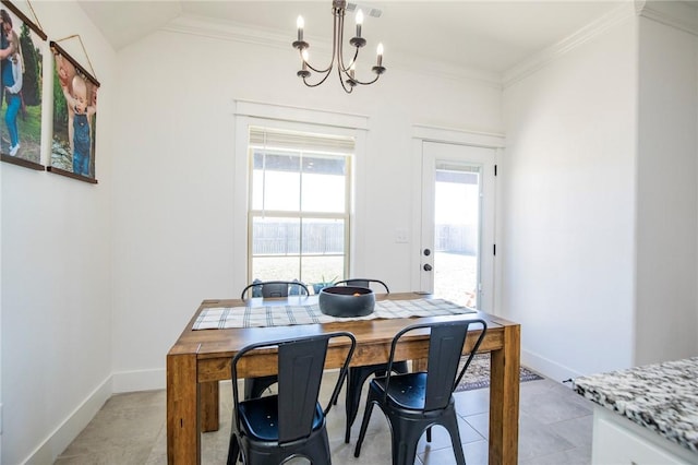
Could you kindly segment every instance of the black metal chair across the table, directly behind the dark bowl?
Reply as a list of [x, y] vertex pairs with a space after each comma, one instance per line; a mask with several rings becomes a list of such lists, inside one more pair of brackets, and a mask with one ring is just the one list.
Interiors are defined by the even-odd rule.
[[[385, 288], [386, 294], [390, 294], [390, 289], [387, 284], [380, 279], [373, 278], [351, 278], [338, 281], [335, 283], [335, 286], [358, 286], [358, 287], [369, 287], [371, 283], [377, 283]], [[366, 365], [363, 367], [351, 367], [349, 368], [349, 378], [347, 379], [347, 393], [345, 401], [345, 410], [347, 414], [347, 429], [345, 431], [345, 442], [349, 443], [351, 439], [351, 426], [357, 419], [357, 414], [359, 413], [359, 404], [361, 403], [361, 389], [363, 388], [363, 383], [371, 377], [372, 374], [376, 375], [385, 375], [385, 370], [387, 368], [387, 363], [376, 363], [376, 365]], [[407, 362], [406, 361], [396, 361], [393, 365], [393, 370], [396, 373], [407, 373]]]

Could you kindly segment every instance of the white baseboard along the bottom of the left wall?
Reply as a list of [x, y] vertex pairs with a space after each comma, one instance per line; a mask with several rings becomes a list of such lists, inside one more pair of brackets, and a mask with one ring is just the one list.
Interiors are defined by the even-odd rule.
[[46, 465], [56, 462], [58, 455], [85, 429], [111, 394], [109, 375], [22, 462], [22, 465]]

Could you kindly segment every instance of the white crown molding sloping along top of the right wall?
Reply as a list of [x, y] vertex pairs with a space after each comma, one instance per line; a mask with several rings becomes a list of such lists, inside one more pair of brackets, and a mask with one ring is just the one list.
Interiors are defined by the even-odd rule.
[[579, 47], [593, 37], [604, 33], [609, 28], [634, 17], [636, 11], [633, 8], [633, 3], [622, 3], [611, 12], [601, 16], [597, 21], [583, 26], [573, 35], [558, 41], [557, 44], [542, 50], [539, 53], [531, 56], [526, 61], [510, 68], [502, 75], [503, 87], [506, 88], [524, 78], [539, 71], [550, 64], [551, 62], [559, 59], [559, 57], [568, 53], [570, 50]]

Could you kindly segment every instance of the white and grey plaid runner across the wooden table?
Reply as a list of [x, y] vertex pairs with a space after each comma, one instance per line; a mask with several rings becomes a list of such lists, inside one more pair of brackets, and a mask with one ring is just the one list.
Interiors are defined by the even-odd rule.
[[293, 324], [330, 323], [333, 321], [441, 317], [474, 312], [473, 309], [442, 299], [381, 300], [375, 302], [373, 313], [356, 318], [329, 317], [320, 311], [317, 303], [309, 306], [212, 307], [202, 310], [193, 329], [290, 326]]

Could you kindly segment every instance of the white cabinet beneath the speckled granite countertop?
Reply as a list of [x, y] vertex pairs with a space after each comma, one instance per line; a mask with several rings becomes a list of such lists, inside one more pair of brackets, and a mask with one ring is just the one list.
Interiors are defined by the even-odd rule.
[[698, 454], [607, 408], [593, 413], [593, 465], [688, 465]]

